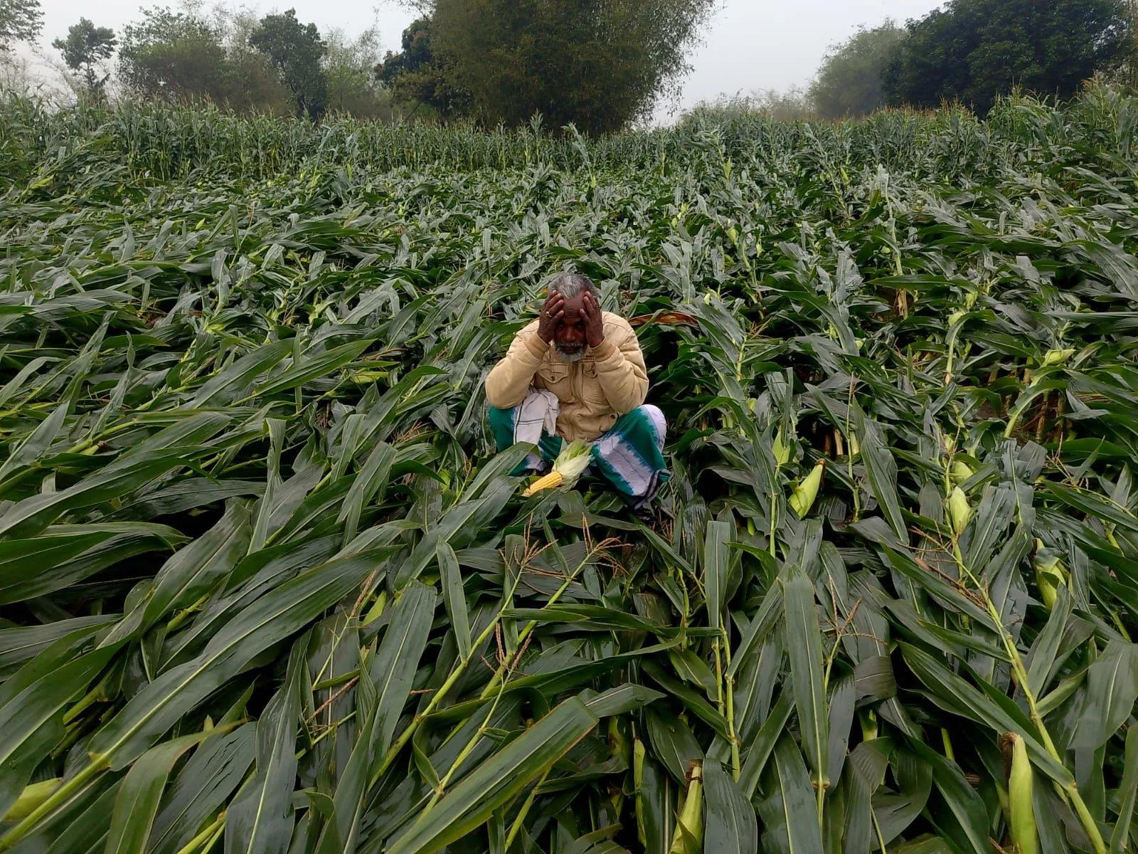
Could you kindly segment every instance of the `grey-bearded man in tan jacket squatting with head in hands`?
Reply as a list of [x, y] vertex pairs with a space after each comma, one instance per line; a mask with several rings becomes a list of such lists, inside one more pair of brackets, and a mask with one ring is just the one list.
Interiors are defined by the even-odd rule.
[[663, 413], [645, 405], [648, 370], [636, 334], [602, 312], [596, 287], [562, 273], [537, 320], [486, 377], [489, 421], [498, 451], [516, 442], [538, 446], [523, 468], [545, 470], [563, 442], [592, 445], [592, 468], [637, 510], [669, 473]]

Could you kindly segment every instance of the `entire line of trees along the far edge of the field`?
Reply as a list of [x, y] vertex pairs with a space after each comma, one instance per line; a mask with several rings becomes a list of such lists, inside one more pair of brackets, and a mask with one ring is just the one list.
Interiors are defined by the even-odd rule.
[[[319, 121], [331, 109], [484, 126], [517, 126], [541, 114], [546, 126], [571, 122], [604, 133], [678, 93], [715, 0], [414, 5], [420, 17], [401, 49], [384, 56], [374, 28], [354, 39], [321, 33], [292, 9], [257, 18], [154, 7], [121, 33], [81, 18], [52, 46], [88, 97], [100, 97], [114, 71], [133, 97], [209, 99], [239, 112]], [[904, 26], [887, 20], [832, 46], [805, 91], [717, 106], [842, 118], [957, 101], [982, 115], [1014, 87], [1069, 98], [1096, 73], [1132, 83], [1133, 5], [949, 0]], [[0, 54], [41, 26], [39, 0], [0, 0]]]

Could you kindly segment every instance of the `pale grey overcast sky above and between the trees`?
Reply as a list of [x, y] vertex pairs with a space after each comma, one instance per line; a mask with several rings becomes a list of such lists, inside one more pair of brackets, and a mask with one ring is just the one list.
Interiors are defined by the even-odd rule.
[[[42, 46], [51, 54], [51, 40], [65, 35], [81, 15], [118, 31], [138, 17], [140, 5], [139, 0], [41, 2]], [[147, 0], [146, 6], [167, 2], [179, 5], [179, 0]], [[204, 5], [213, 3], [206, 0]], [[258, 13], [295, 7], [302, 20], [313, 20], [321, 30], [341, 27], [349, 34], [374, 23], [385, 46], [393, 49], [413, 17], [395, 2], [373, 7], [344, 0], [250, 0], [244, 5]], [[875, 25], [887, 17], [904, 23], [938, 6], [933, 0], [719, 0], [710, 26], [692, 51], [694, 71], [684, 82], [681, 107], [720, 93], [805, 87], [826, 47], [852, 34], [859, 24]]]

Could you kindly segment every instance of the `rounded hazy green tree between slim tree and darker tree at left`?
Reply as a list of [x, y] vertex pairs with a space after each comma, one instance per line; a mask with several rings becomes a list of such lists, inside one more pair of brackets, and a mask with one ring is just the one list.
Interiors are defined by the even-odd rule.
[[154, 7], [123, 28], [118, 69], [123, 82], [143, 98], [184, 102], [209, 98], [225, 102], [230, 79], [218, 26], [196, 13]]

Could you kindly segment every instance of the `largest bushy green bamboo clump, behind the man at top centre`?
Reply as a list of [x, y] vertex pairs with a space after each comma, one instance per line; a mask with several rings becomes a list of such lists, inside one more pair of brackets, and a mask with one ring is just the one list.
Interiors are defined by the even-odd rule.
[[677, 91], [715, 0], [436, 0], [431, 50], [485, 124], [619, 130]]

